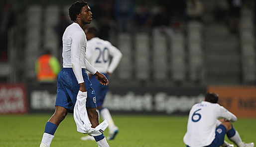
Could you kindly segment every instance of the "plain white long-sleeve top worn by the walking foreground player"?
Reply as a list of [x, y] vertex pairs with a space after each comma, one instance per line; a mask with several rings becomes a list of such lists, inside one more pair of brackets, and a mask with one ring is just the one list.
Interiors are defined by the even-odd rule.
[[78, 83], [83, 83], [82, 68], [92, 74], [97, 70], [86, 59], [87, 40], [83, 29], [77, 23], [69, 25], [62, 37], [63, 41], [63, 67], [73, 68]]

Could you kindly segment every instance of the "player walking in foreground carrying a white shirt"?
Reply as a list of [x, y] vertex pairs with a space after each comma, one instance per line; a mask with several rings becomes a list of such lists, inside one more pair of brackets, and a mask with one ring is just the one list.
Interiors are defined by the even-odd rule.
[[[63, 34], [63, 68], [58, 75], [57, 96], [55, 112], [48, 120], [40, 147], [50, 147], [54, 133], [68, 112], [73, 112], [78, 92], [87, 95], [86, 109], [92, 128], [99, 125], [98, 112], [96, 111], [95, 92], [88, 78], [88, 70], [103, 85], [108, 85], [107, 78], [99, 73], [86, 60], [86, 35], [82, 29], [91, 23], [92, 12], [88, 3], [76, 1], [69, 8], [69, 16], [73, 23], [68, 26]], [[80, 92], [81, 91], [81, 92]], [[94, 137], [99, 147], [109, 147], [103, 134]]]

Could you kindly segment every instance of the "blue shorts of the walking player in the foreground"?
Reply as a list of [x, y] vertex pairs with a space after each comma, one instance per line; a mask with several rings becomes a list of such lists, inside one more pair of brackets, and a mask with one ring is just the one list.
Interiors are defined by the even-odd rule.
[[[86, 107], [95, 108], [95, 92], [84, 69], [82, 69], [82, 75], [85, 82], [85, 88], [87, 90]], [[80, 86], [77, 82], [73, 69], [62, 68], [57, 77], [57, 97], [55, 106], [62, 106], [67, 108], [69, 112], [73, 113], [79, 88]]]

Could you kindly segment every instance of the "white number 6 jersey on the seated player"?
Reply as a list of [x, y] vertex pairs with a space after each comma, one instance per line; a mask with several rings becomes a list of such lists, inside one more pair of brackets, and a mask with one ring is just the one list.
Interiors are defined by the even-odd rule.
[[226, 118], [231, 122], [237, 117], [218, 103], [202, 101], [192, 106], [183, 141], [189, 147], [209, 146], [215, 139], [216, 121]]

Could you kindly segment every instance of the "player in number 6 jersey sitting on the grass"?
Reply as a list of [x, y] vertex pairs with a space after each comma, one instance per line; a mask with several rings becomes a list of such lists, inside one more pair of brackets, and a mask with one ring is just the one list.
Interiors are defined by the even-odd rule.
[[[224, 143], [225, 134], [238, 147], [254, 147], [254, 143], [242, 142], [232, 122], [237, 117], [220, 106], [218, 95], [207, 93], [204, 101], [192, 106], [183, 141], [187, 147], [230, 147]], [[218, 120], [219, 118], [223, 118]], [[217, 127], [217, 128], [216, 128]]]

